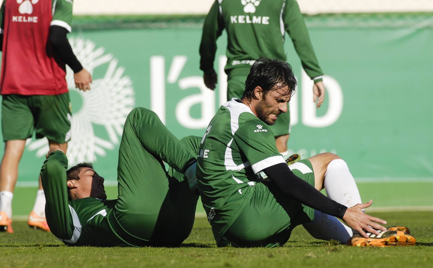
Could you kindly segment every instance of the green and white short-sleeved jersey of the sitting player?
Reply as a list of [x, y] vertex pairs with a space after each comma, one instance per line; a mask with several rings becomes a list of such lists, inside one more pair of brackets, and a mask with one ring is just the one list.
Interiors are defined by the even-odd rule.
[[201, 140], [197, 178], [216, 243], [251, 200], [257, 175], [285, 163], [274, 134], [238, 99], [223, 104]]

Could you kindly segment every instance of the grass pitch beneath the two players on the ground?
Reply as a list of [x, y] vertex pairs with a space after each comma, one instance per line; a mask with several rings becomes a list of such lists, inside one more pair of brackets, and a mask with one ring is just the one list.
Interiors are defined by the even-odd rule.
[[179, 248], [67, 247], [51, 233], [14, 221], [14, 234], [0, 233], [0, 267], [432, 267], [433, 212], [372, 214], [410, 227], [417, 245], [348, 247], [312, 239], [298, 226], [281, 248], [217, 248], [207, 219], [197, 218]]

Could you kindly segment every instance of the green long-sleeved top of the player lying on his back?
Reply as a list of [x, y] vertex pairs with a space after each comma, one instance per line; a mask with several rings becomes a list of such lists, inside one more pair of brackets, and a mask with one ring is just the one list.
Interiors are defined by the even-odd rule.
[[[41, 169], [45, 215], [51, 232], [66, 245], [131, 245], [114, 217], [117, 200], [86, 197], [68, 200], [63, 152], [52, 152]], [[121, 238], [122, 237], [122, 238]]]

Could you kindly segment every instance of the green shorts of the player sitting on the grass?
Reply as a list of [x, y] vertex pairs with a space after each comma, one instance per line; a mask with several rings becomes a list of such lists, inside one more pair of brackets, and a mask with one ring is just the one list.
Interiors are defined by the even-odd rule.
[[[304, 159], [290, 166], [314, 186], [313, 166]], [[275, 247], [284, 245], [297, 225], [314, 219], [314, 210], [284, 194], [273, 182], [255, 184], [254, 196], [218, 246]]]

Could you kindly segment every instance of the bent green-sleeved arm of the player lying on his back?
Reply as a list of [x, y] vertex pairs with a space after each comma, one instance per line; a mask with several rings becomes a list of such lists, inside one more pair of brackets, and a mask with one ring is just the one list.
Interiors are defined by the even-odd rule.
[[60, 239], [71, 239], [73, 233], [66, 186], [67, 167], [66, 155], [55, 151], [48, 156], [41, 169], [45, 216], [51, 232]]

